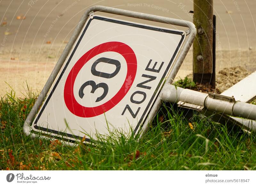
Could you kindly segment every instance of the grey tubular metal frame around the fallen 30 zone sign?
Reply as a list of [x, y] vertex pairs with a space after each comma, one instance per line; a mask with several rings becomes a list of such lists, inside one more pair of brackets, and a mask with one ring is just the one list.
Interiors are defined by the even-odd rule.
[[[86, 23], [87, 19], [94, 14], [94, 12], [100, 11], [100, 12], [105, 12], [105, 13], [111, 13], [111, 14], [116, 14], [116, 15], [122, 15], [122, 16], [127, 16], [127, 17], [132, 17], [132, 18], [138, 18], [138, 19], [144, 19], [144, 20], [150, 20], [150, 21], [155, 21], [155, 22], [160, 22], [160, 23], [166, 23], [166, 24], [171, 24], [171, 25], [176, 25], [176, 26], [182, 26], [182, 27], [188, 27], [188, 31], [186, 32], [188, 37], [185, 40], [183, 47], [180, 50], [180, 54], [177, 56], [176, 62], [173, 64], [171, 72], [165, 82], [164, 85], [167, 83], [172, 83], [173, 79], [175, 78], [178, 70], [180, 69], [180, 66], [182, 62], [184, 61], [185, 56], [187, 55], [195, 37], [196, 37], [196, 27], [195, 25], [190, 22], [190, 21], [185, 21], [185, 20], [180, 20], [180, 19], [172, 19], [172, 18], [167, 18], [167, 17], [162, 17], [162, 16], [156, 16], [156, 15], [151, 15], [151, 14], [145, 14], [145, 13], [140, 13], [140, 12], [133, 12], [133, 11], [127, 11], [127, 10], [122, 10], [122, 9], [117, 9], [117, 8], [112, 8], [112, 7], [105, 7], [105, 6], [93, 6], [83, 14], [82, 18], [80, 19], [79, 23], [77, 24], [75, 31], [73, 35], [71, 36], [70, 40], [68, 41], [68, 44], [66, 45], [65, 49], [63, 50], [56, 66], [54, 67], [50, 77], [48, 78], [44, 88], [42, 89], [42, 92], [39, 94], [35, 105], [31, 109], [27, 119], [24, 122], [23, 126], [23, 131], [26, 136], [31, 136], [32, 138], [36, 137], [41, 137], [41, 138], [47, 138], [47, 139], [52, 139], [54, 136], [51, 137], [46, 137], [46, 136], [41, 136], [35, 133], [31, 133], [31, 123], [33, 122], [36, 113], [38, 112], [40, 106], [43, 104], [45, 97], [47, 96], [47, 93], [49, 92], [50, 88], [52, 87], [52, 84], [54, 80], [56, 79], [57, 75], [59, 74], [61, 67], [63, 66], [70, 50], [72, 49], [74, 43], [76, 42], [76, 39], [80, 32], [82, 31], [82, 28], [84, 24]], [[159, 95], [161, 94], [162, 90], [160, 91]], [[148, 113], [148, 117], [145, 120], [141, 131], [140, 131], [140, 138], [143, 137], [143, 135], [148, 131], [149, 126], [151, 125], [152, 120], [157, 114], [157, 111], [160, 108], [161, 105], [161, 99], [160, 97], [156, 98], [156, 101], [154, 105], [152, 106], [150, 112]], [[62, 141], [62, 143], [65, 143], [67, 145], [74, 145], [74, 143], [70, 143], [67, 141]]]

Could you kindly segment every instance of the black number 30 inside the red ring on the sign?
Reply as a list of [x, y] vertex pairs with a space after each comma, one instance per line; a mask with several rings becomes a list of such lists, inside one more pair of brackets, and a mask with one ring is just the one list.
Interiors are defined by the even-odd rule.
[[[109, 64], [112, 64], [112, 65], [115, 65], [116, 66], [116, 70], [115, 72], [111, 73], [111, 74], [108, 74], [108, 73], [104, 73], [104, 72], [99, 72], [96, 70], [96, 66], [100, 63], [100, 62], [103, 62], [103, 63], [109, 63]], [[119, 61], [115, 60], [115, 59], [109, 59], [109, 58], [99, 58], [97, 59], [93, 64], [92, 64], [92, 68], [91, 68], [91, 72], [93, 75], [95, 76], [98, 76], [98, 77], [103, 77], [103, 78], [112, 78], [114, 76], [116, 76], [116, 74], [118, 74], [118, 72], [120, 71], [120, 68], [121, 68], [121, 64]], [[98, 97], [96, 99], [95, 102], [99, 102], [101, 101], [102, 99], [104, 99], [107, 94], [108, 94], [108, 85], [106, 83], [99, 83], [99, 84], [96, 84], [95, 81], [86, 81], [79, 89], [79, 97], [80, 98], [83, 98], [84, 97], [84, 88], [88, 85], [91, 85], [92, 87], [92, 91], [91, 93], [94, 93], [96, 89], [98, 88], [103, 88], [104, 89], [104, 92], [103, 94]]]

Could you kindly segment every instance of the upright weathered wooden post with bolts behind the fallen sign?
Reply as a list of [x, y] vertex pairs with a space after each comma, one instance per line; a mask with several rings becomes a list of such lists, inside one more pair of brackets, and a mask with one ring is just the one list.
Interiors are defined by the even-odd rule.
[[[193, 43], [193, 80], [215, 88], [212, 64], [213, 0], [194, 0], [197, 34]], [[214, 74], [214, 77], [213, 77]]]

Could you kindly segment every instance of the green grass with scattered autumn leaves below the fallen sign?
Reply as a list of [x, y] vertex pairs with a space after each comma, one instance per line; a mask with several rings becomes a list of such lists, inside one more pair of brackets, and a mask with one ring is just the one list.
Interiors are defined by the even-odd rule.
[[[255, 135], [229, 131], [194, 115], [184, 118], [163, 105], [141, 142], [109, 137], [98, 144], [67, 147], [59, 141], [31, 139], [23, 123], [37, 95], [7, 94], [0, 102], [2, 170], [254, 170]], [[189, 125], [191, 123], [191, 126]]]

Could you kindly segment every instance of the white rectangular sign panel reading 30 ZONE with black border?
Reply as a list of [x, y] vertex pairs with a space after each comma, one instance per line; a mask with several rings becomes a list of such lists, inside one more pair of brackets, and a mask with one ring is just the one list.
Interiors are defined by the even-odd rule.
[[96, 133], [108, 135], [108, 127], [137, 133], [185, 37], [181, 30], [92, 16], [37, 113], [33, 129], [71, 140], [87, 134], [86, 141], [88, 136], [97, 139]]

